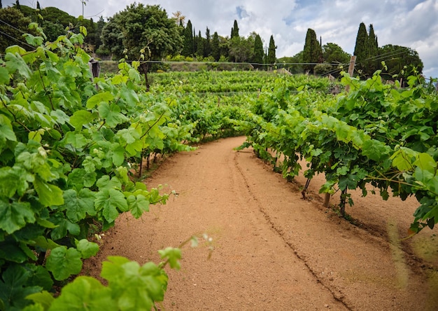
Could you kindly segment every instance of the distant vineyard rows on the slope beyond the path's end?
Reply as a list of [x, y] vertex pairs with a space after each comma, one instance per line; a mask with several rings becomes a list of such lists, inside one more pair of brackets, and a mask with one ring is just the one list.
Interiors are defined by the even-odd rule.
[[150, 75], [151, 94], [176, 102], [174, 115], [193, 124], [192, 139], [217, 139], [243, 134], [241, 122], [262, 90], [274, 90], [279, 77], [291, 94], [300, 88], [327, 92], [332, 84], [313, 76], [288, 76], [277, 71], [197, 71]]

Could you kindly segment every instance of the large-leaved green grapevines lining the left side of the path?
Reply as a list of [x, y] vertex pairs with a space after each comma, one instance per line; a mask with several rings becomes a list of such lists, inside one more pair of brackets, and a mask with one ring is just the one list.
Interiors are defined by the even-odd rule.
[[[104, 264], [108, 286], [78, 277], [52, 293], [97, 254], [93, 226], [167, 201], [171, 193], [133, 182], [130, 164], [150, 150], [190, 150], [181, 141], [193, 125], [174, 122], [172, 104], [151, 98], [125, 62], [92, 82], [83, 34], [43, 44], [33, 27], [34, 50], [11, 46], [0, 60], [0, 310], [150, 309], [167, 288], [163, 265], [120, 257]], [[178, 268], [179, 249], [161, 255]]]

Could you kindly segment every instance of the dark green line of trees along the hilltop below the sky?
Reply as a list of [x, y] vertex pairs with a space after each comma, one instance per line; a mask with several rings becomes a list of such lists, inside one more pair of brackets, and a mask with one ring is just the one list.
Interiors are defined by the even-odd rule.
[[[38, 1], [36, 9], [22, 6], [18, 0], [13, 7], [1, 8], [0, 1], [0, 20], [3, 21], [0, 32], [7, 34], [0, 38], [0, 53], [7, 46], [22, 41], [22, 32], [29, 32], [29, 22], [38, 22], [48, 41], [65, 34], [66, 29], [78, 32], [75, 26], [85, 26], [88, 33], [85, 50], [99, 58], [113, 60], [246, 62], [255, 69], [276, 67], [286, 68], [294, 74], [309, 72], [339, 76], [351, 57], [337, 43], [323, 45], [316, 32], [308, 29], [301, 52], [277, 59], [274, 36], [268, 45], [255, 32], [247, 37], [241, 36], [236, 20], [229, 36], [220, 36], [218, 32], [211, 34], [209, 27], [203, 36], [190, 20], [185, 22], [186, 17], [180, 11], [169, 18], [158, 5], [134, 3], [106, 21], [100, 17], [94, 22], [92, 18], [74, 18], [58, 8], [41, 9]], [[361, 78], [369, 78], [374, 71], [382, 69], [381, 76], [388, 80], [406, 80], [413, 71], [421, 74], [423, 70], [423, 62], [415, 50], [391, 44], [379, 47], [373, 25], [369, 25], [367, 31], [363, 22], [358, 29], [354, 55], [357, 56], [356, 73]], [[141, 69], [146, 73], [150, 68], [145, 64]], [[153, 69], [166, 68], [155, 64]]]

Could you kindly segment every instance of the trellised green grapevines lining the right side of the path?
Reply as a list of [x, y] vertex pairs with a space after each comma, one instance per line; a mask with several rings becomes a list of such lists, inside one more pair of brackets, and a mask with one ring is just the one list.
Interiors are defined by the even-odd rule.
[[[367, 81], [344, 76], [348, 94], [337, 97], [302, 90], [285, 92], [286, 81], [262, 92], [244, 124], [248, 139], [264, 158], [283, 155], [283, 175], [293, 178], [307, 160], [309, 180], [324, 173], [320, 192], [341, 192], [341, 212], [353, 205], [348, 190], [367, 195], [372, 184], [384, 199], [415, 195], [420, 207], [411, 230], [438, 222], [437, 93], [411, 76], [409, 88], [383, 84], [379, 72]], [[268, 152], [271, 151], [271, 152]], [[276, 154], [274, 157], [272, 154]], [[374, 191], [373, 191], [374, 192]]]

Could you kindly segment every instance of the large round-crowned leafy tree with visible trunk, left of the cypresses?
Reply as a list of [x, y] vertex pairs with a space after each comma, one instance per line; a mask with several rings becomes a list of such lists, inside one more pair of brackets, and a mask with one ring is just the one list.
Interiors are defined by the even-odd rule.
[[[112, 50], [115, 57], [126, 55], [129, 60], [161, 60], [166, 55], [179, 53], [183, 44], [175, 20], [159, 5], [131, 4], [110, 18], [104, 29], [106, 27], [113, 30], [113, 38], [107, 39], [103, 35], [102, 41], [108, 48], [118, 47]], [[126, 54], [120, 53], [120, 42]], [[147, 88], [149, 64], [142, 62], [139, 67], [145, 75]]]

